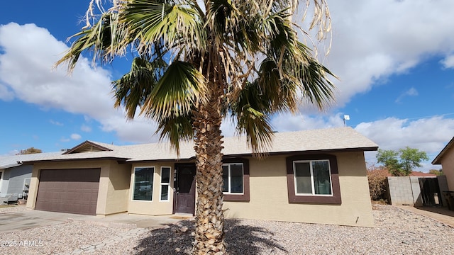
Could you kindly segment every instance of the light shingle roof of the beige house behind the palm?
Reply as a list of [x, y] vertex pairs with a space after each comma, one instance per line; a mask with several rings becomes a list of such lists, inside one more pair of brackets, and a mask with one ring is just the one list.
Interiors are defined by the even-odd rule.
[[[245, 137], [225, 137], [223, 139], [223, 154], [225, 156], [248, 156], [252, 154], [247, 146]], [[84, 152], [78, 148], [84, 144], [104, 147], [104, 151]], [[319, 130], [304, 130], [296, 132], [277, 132], [273, 138], [269, 154], [284, 154], [289, 152], [333, 152], [333, 151], [375, 151], [377, 144], [353, 128], [328, 128]], [[71, 153], [72, 152], [72, 153]], [[70, 153], [49, 155], [49, 157], [30, 162], [77, 160], [77, 159], [117, 159], [126, 162], [143, 162], [157, 160], [194, 159], [194, 143], [180, 144], [180, 154], [170, 149], [168, 142], [143, 145], [107, 145], [100, 142], [85, 141], [70, 149]]]

